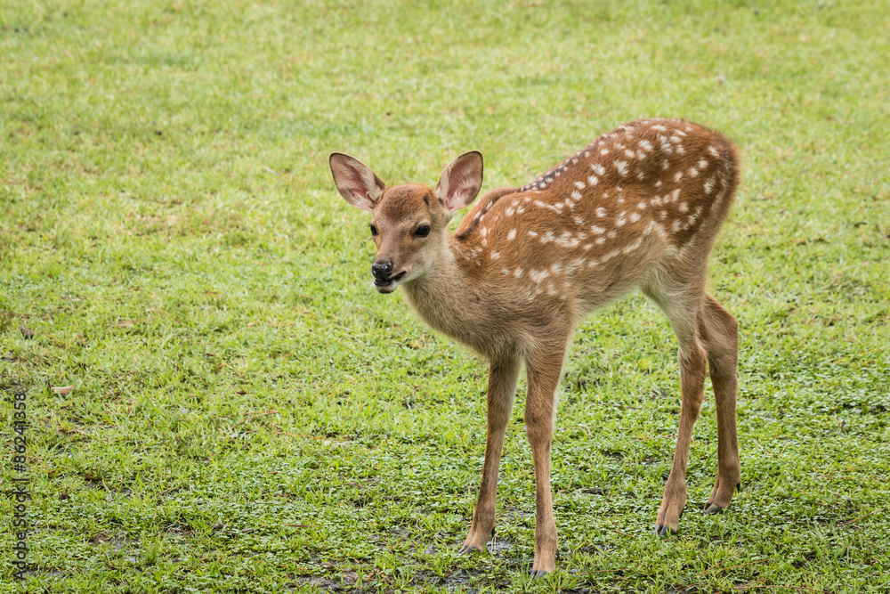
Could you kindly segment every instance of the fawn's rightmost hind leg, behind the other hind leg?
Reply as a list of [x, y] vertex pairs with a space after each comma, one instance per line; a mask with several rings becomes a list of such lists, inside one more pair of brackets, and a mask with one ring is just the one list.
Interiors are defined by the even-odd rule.
[[739, 440], [735, 427], [739, 324], [710, 295], [705, 296], [701, 313], [708, 333], [708, 370], [717, 411], [717, 478], [705, 513], [716, 514], [729, 507], [732, 492], [740, 488]]

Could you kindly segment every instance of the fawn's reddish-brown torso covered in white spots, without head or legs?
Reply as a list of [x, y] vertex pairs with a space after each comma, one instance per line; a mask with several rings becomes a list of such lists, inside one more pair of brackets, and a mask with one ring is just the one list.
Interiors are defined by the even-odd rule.
[[522, 188], [483, 196], [457, 229], [458, 253], [514, 306], [557, 300], [587, 313], [678, 259], [706, 257], [737, 177], [720, 134], [631, 122]]

